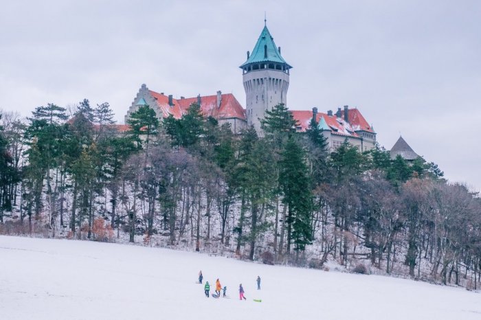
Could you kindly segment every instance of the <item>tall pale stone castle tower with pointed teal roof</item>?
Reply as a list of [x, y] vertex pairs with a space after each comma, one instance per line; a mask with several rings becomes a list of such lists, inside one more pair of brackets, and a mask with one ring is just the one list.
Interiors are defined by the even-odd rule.
[[240, 66], [246, 95], [247, 124], [260, 133], [260, 121], [266, 110], [276, 104], [287, 105], [289, 69], [292, 67], [280, 55], [267, 25], [260, 33], [252, 54], [247, 52], [247, 61]]

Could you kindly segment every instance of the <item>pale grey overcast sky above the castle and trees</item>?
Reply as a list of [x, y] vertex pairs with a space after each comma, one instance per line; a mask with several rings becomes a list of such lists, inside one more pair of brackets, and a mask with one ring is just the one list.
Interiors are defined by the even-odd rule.
[[348, 104], [450, 181], [481, 189], [481, 1], [2, 1], [0, 108], [109, 102], [142, 83], [234, 93], [264, 25], [293, 66], [287, 106]]

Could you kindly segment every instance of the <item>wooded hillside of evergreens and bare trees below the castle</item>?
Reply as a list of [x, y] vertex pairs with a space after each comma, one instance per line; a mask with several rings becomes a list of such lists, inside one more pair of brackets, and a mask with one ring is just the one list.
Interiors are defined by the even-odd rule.
[[476, 289], [481, 200], [435, 163], [344, 142], [283, 105], [234, 135], [199, 105], [118, 130], [108, 103], [0, 119], [0, 234], [130, 241]]

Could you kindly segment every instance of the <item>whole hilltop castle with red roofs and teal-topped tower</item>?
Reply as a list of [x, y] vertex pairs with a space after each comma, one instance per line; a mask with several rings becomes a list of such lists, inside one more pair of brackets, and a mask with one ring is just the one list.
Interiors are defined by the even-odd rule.
[[[146, 84], [142, 84], [128, 109], [125, 121], [139, 106], [144, 105], [153, 108], [159, 119], [170, 115], [178, 119], [195, 102], [201, 106], [205, 116], [214, 117], [219, 125], [230, 123], [234, 133], [240, 133], [247, 126], [254, 126], [262, 135], [260, 119], [264, 117], [265, 111], [271, 111], [273, 106], [280, 103], [290, 107], [287, 103], [287, 90], [292, 69], [282, 58], [280, 47], [276, 47], [267, 25], [262, 29], [252, 53], [247, 52], [247, 60], [240, 65], [240, 69], [243, 70], [245, 108], [232, 93], [217, 91], [214, 95], [175, 99], [172, 95], [152, 91]], [[306, 131], [314, 117], [327, 138], [331, 151], [339, 148], [346, 139], [357, 146], [359, 151], [370, 150], [376, 145], [374, 129], [357, 108], [344, 106], [338, 108], [336, 113], [331, 110], [321, 113], [314, 107], [309, 111], [291, 110], [291, 113], [298, 122], [295, 130], [299, 133]]]

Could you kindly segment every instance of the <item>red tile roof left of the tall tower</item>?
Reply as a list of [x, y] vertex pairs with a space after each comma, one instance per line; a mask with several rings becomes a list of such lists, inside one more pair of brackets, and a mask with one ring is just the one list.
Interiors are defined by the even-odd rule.
[[[197, 97], [172, 99], [173, 106], [168, 104], [168, 96], [150, 90], [150, 94], [155, 98], [157, 106], [162, 111], [164, 117], [173, 115], [176, 119], [182, 117], [187, 112], [190, 104], [197, 103]], [[217, 95], [205, 95], [201, 97], [201, 111], [206, 117], [212, 116], [216, 119], [238, 118], [245, 120], [245, 110], [236, 100], [232, 93], [221, 95], [221, 106], [217, 108]]]

